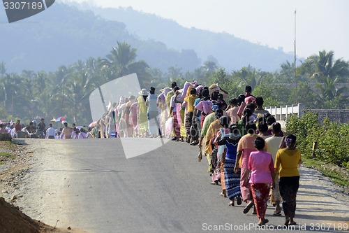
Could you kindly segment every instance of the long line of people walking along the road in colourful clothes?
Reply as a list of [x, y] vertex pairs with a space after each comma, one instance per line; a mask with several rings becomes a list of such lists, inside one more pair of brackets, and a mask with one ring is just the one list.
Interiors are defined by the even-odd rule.
[[[285, 214], [285, 225], [295, 225], [296, 196], [299, 188], [300, 151], [296, 137], [284, 136], [281, 125], [263, 108], [263, 98], [254, 97], [252, 88], [225, 101], [229, 93], [214, 83], [209, 87], [173, 82], [156, 94], [156, 88], [142, 89], [139, 96], [121, 97], [110, 104], [94, 127], [45, 129], [31, 122], [30, 134], [45, 129], [47, 139], [89, 139], [94, 137], [167, 137], [198, 146], [198, 161], [207, 157], [211, 184], [221, 184], [220, 195], [229, 206], [246, 203], [243, 213], [253, 209], [258, 225], [265, 225], [267, 203], [275, 206], [274, 215]], [[0, 125], [0, 132], [16, 135], [20, 120], [12, 129]]]

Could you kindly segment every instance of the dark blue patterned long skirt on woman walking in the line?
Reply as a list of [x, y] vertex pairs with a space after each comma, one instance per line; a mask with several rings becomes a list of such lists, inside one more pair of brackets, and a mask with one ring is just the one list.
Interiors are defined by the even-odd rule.
[[240, 170], [234, 173], [235, 160], [225, 157], [224, 162], [224, 183], [227, 195], [230, 200], [241, 196], [240, 191]]

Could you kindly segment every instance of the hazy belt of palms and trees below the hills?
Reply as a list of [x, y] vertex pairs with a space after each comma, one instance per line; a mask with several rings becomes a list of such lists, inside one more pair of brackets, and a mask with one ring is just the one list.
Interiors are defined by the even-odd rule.
[[79, 60], [70, 66], [60, 66], [53, 73], [28, 70], [6, 73], [6, 64], [2, 62], [0, 118], [20, 118], [26, 122], [67, 115], [77, 124], [88, 124], [91, 122], [89, 94], [104, 83], [129, 73], [138, 74], [142, 88], [153, 86], [160, 90], [170, 86], [172, 81], [183, 85], [186, 80], [198, 80], [198, 83], [207, 86], [218, 83], [230, 93], [230, 97], [237, 97], [244, 93], [246, 85], [251, 85], [255, 96], [265, 98], [265, 106], [302, 102], [306, 108], [348, 108], [342, 103], [349, 100], [349, 65], [342, 59], [334, 61], [333, 52], [322, 51], [318, 56], [306, 59], [297, 68], [296, 77], [294, 65], [289, 62], [282, 64], [281, 71], [275, 73], [252, 66], [229, 72], [209, 61], [194, 71], [183, 72], [180, 67], [172, 66], [163, 73], [136, 57], [137, 50], [129, 43], [117, 42], [105, 58]]

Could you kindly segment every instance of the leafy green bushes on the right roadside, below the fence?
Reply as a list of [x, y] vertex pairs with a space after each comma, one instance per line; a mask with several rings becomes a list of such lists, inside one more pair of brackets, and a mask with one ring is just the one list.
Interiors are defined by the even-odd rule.
[[[349, 185], [349, 124], [338, 124], [310, 111], [301, 118], [292, 115], [286, 121], [286, 132], [297, 136], [297, 148], [302, 151], [304, 165], [315, 167], [339, 185]], [[313, 150], [313, 142], [317, 147]]]

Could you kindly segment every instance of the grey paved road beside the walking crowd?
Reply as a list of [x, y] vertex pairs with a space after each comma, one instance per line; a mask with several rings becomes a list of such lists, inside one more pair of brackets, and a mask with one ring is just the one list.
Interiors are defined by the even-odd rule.
[[[187, 143], [170, 141], [128, 160], [119, 139], [31, 139], [27, 143], [40, 156], [20, 190], [23, 209], [50, 225], [90, 233], [265, 230], [255, 229], [257, 217], [251, 212], [242, 213], [245, 204], [228, 206], [228, 199], [219, 196], [221, 186], [209, 185], [206, 157], [198, 162], [198, 148]], [[326, 221], [325, 232], [337, 227], [329, 224], [334, 220], [330, 213], [311, 217], [302, 204], [297, 206], [302, 218], [296, 216], [296, 232], [299, 227], [311, 232], [311, 224]], [[284, 218], [272, 213], [269, 207], [270, 227], [281, 232], [276, 227], [283, 225]], [[225, 231], [210, 231], [218, 225]]]

